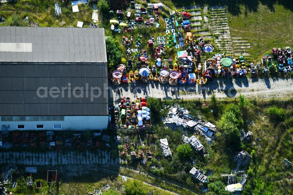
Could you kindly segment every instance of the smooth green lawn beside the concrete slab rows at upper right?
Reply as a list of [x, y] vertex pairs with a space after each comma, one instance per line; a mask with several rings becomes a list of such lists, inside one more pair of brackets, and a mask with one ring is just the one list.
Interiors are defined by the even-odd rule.
[[271, 54], [273, 47], [293, 46], [291, 25], [293, 13], [284, 6], [273, 5], [274, 11], [268, 6], [259, 4], [257, 12], [240, 6], [239, 15], [228, 12], [231, 36], [239, 36], [251, 44], [248, 53], [254, 59], [263, 54]]

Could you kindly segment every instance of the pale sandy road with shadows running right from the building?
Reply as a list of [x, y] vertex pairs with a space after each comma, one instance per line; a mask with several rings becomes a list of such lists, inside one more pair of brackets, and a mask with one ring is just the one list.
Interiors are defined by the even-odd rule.
[[293, 97], [292, 78], [236, 78], [236, 79], [214, 79], [206, 85], [176, 85], [160, 84], [153, 82], [149, 84], [136, 83], [135, 87], [128, 84], [109, 84], [108, 95], [110, 100], [130, 97], [131, 99], [141, 97], [156, 97], [162, 99], [208, 99], [212, 92], [217, 98], [234, 98], [243, 94], [246, 98], [272, 99]]

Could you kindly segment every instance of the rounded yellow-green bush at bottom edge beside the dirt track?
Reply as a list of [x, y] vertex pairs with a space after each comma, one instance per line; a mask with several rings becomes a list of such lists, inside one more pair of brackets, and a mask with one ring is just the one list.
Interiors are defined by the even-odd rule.
[[142, 181], [139, 181], [137, 179], [129, 179], [124, 184], [125, 187], [125, 194], [126, 195], [147, 195], [148, 190], [142, 183]]

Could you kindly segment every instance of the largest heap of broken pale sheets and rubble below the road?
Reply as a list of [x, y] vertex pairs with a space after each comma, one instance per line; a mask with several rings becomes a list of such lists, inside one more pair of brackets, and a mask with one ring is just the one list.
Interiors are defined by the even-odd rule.
[[205, 138], [212, 138], [213, 133], [216, 131], [214, 124], [193, 118], [188, 110], [183, 107], [180, 108], [179, 105], [165, 106], [165, 108], [169, 108], [169, 112], [168, 117], [162, 118], [163, 123], [173, 130], [179, 128], [184, 131], [198, 132]]

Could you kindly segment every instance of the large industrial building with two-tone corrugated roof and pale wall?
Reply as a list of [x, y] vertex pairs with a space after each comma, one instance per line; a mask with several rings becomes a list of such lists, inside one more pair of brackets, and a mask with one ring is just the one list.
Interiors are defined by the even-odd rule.
[[102, 28], [0, 27], [1, 131], [108, 125]]

